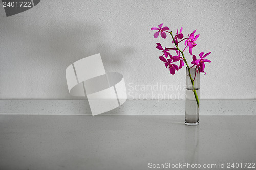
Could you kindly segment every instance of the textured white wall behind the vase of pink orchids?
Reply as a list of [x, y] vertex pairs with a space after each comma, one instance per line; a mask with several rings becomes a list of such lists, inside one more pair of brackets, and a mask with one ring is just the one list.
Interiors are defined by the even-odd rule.
[[72, 98], [65, 69], [96, 53], [106, 71], [124, 75], [130, 99], [162, 99], [166, 93], [178, 98], [184, 93], [185, 68], [170, 75], [159, 60], [156, 43], [171, 42], [169, 36], [154, 39], [150, 28], [159, 23], [174, 32], [183, 26], [184, 35], [197, 29], [193, 53], [212, 52], [207, 74], [201, 74], [201, 99], [255, 98], [255, 9], [255, 0], [41, 0], [6, 17], [1, 6], [0, 98]]

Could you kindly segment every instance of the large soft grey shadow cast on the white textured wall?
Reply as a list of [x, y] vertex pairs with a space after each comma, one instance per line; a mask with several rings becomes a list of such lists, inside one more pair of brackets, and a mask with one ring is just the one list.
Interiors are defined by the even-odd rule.
[[[67, 98], [76, 98], [69, 95], [65, 70], [79, 59], [100, 53], [106, 72], [120, 72], [118, 69], [123, 67], [126, 58], [133, 53], [131, 47], [118, 48], [115, 43], [110, 44], [108, 37], [111, 33], [91, 23], [50, 20], [47, 23], [35, 22], [34, 25], [27, 26], [22, 20], [7, 23], [10, 26], [8, 38], [15, 41], [18, 39], [23, 46], [20, 48], [20, 55], [23, 56], [13, 57], [22, 57], [25, 60], [23, 64], [27, 67], [31, 65], [27, 68], [31, 72], [28, 76], [41, 76], [41, 71], [47, 70], [44, 79], [49, 84], [38, 85], [40, 81], [32, 84], [45, 86], [44, 90], [48, 90], [48, 93], [54, 90], [54, 94], [66, 93]], [[34, 20], [36, 18], [33, 18], [33, 22]]]

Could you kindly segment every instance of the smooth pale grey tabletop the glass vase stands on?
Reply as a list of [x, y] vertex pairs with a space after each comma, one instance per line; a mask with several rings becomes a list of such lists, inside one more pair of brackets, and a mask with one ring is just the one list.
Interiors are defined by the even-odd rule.
[[256, 116], [200, 116], [198, 126], [186, 126], [178, 115], [0, 115], [0, 169], [245, 169], [256, 163], [255, 122]]

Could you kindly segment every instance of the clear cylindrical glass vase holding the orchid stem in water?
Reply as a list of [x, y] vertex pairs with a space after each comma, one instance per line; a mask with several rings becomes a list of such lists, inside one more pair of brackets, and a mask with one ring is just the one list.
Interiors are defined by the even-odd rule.
[[199, 124], [199, 68], [186, 68], [186, 106], [185, 124]]

